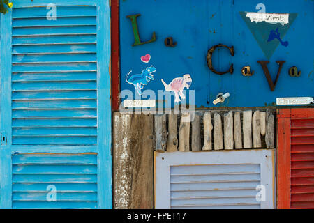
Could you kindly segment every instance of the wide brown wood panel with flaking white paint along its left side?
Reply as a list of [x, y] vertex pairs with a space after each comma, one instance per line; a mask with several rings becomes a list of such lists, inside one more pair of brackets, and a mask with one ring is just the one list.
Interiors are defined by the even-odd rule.
[[114, 112], [114, 208], [154, 208], [153, 116]]

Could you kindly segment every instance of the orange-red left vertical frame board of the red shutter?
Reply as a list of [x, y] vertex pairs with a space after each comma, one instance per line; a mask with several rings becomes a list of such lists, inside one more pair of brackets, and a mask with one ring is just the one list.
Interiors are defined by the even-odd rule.
[[[283, 111], [285, 112], [285, 111]], [[290, 208], [290, 118], [277, 123], [277, 208]]]

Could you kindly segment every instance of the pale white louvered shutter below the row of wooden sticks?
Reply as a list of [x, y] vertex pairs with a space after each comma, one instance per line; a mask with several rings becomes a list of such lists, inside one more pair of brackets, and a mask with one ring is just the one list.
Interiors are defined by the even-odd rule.
[[156, 208], [274, 208], [274, 150], [155, 157]]

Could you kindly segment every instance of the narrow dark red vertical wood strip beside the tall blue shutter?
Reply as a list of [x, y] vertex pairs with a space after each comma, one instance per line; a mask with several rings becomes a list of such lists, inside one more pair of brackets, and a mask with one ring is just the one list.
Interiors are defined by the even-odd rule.
[[120, 92], [119, 0], [111, 0], [111, 93], [112, 111], [119, 111]]

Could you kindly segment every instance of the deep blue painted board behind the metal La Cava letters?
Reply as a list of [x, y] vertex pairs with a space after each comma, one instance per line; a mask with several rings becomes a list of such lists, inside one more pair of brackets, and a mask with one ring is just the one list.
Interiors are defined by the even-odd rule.
[[[135, 98], [135, 89], [126, 82], [125, 77], [130, 70], [138, 71], [147, 68], [147, 64], [142, 63], [140, 57], [150, 54], [149, 63], [154, 64], [157, 69], [154, 73], [156, 80], [145, 85], [142, 91], [151, 89], [157, 95], [157, 90], [164, 90], [160, 79], [169, 83], [175, 77], [188, 73], [193, 79], [190, 90], [195, 90], [196, 107], [268, 106], [276, 102], [277, 97], [313, 95], [313, 78], [308, 77], [308, 74], [313, 70], [314, 2], [292, 0], [263, 2], [266, 13], [290, 13], [291, 20], [290, 24], [280, 25], [281, 28], [278, 29], [281, 39], [289, 42], [287, 47], [281, 45], [277, 39], [267, 42], [270, 29], [265, 33], [264, 45], [278, 45], [270, 59], [265, 56], [240, 15], [241, 12], [257, 13], [255, 7], [258, 3], [261, 2], [258, 0], [120, 1], [121, 90], [132, 91]], [[126, 16], [137, 13], [141, 14], [137, 17], [140, 38], [149, 40], [151, 33], [155, 31], [157, 40], [133, 47], [133, 29], [130, 19]], [[260, 35], [262, 40], [264, 34], [259, 30], [254, 32]], [[172, 37], [177, 45], [166, 47], [164, 40], [167, 37]], [[235, 54], [231, 56], [227, 49], [217, 49], [213, 54], [214, 68], [224, 71], [233, 63], [232, 75], [230, 73], [216, 75], [207, 66], [207, 51], [218, 43], [234, 46]], [[273, 92], [269, 89], [262, 67], [257, 63], [261, 60], [270, 62], [269, 72], [273, 79], [278, 70], [276, 61], [286, 61]], [[241, 75], [241, 68], [244, 66], [251, 66], [251, 70], [255, 71], [254, 75], [251, 77]], [[288, 70], [292, 66], [297, 66], [298, 70], [301, 70], [300, 77], [288, 75]], [[230, 98], [227, 98], [223, 104], [213, 105], [216, 95], [226, 92], [230, 93]], [[174, 95], [172, 106], [173, 102]]]

